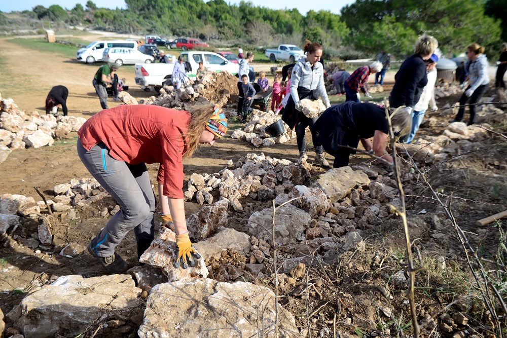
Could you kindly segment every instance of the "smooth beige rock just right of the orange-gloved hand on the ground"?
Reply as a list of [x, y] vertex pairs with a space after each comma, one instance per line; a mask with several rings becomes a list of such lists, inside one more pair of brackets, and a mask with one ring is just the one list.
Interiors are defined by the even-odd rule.
[[234, 229], [222, 228], [215, 236], [202, 242], [195, 243], [197, 251], [205, 258], [219, 259], [223, 250], [250, 251], [250, 238], [245, 233]]

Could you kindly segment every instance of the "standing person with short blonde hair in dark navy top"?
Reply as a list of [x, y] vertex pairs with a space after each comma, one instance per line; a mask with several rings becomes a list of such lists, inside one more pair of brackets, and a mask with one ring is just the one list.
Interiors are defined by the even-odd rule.
[[423, 34], [415, 45], [415, 54], [403, 61], [394, 76], [394, 86], [389, 94], [389, 106], [405, 106], [408, 115], [412, 115], [415, 104], [419, 101], [423, 88], [428, 84], [426, 63], [439, 46], [433, 36]]

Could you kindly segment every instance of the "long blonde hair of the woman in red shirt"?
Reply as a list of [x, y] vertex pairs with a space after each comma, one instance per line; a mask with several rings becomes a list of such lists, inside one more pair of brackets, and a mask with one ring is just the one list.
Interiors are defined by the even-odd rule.
[[184, 135], [187, 152], [183, 157], [189, 158], [196, 151], [204, 127], [206, 127], [206, 122], [208, 122], [211, 115], [213, 115], [213, 107], [214, 105], [212, 104], [201, 104], [187, 108], [187, 111], [190, 113], [190, 124], [188, 131]]

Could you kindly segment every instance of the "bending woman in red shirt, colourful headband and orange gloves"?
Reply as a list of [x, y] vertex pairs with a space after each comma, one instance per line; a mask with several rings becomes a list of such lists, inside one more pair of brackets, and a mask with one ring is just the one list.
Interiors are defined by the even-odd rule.
[[120, 206], [88, 244], [88, 252], [108, 272], [121, 274], [128, 264], [116, 247], [134, 230], [137, 256], [154, 239], [156, 198], [146, 164], [160, 163], [162, 217], [172, 221], [178, 255], [176, 268], [194, 266], [200, 258], [192, 248], [183, 203], [183, 159], [199, 144], [212, 145], [227, 132], [227, 119], [218, 106], [194, 105], [185, 110], [156, 105], [120, 105], [104, 109], [78, 131], [79, 158]]

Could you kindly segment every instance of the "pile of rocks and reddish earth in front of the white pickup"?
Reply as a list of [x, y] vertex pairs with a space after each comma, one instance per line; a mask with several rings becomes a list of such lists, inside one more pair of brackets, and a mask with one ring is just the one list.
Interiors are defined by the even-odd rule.
[[179, 89], [164, 86], [158, 97], [140, 100], [140, 104], [155, 104], [167, 108], [185, 108], [193, 104], [213, 103], [224, 106], [237, 92], [238, 79], [228, 72], [207, 72], [201, 79], [189, 80]]

